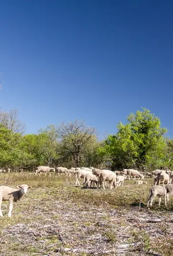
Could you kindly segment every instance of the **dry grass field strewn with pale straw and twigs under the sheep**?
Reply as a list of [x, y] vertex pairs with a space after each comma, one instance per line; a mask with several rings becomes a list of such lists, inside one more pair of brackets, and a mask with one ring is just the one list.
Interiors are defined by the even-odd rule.
[[153, 180], [147, 181], [104, 191], [76, 187], [63, 174], [3, 174], [1, 185], [33, 188], [13, 204], [11, 219], [9, 202], [2, 202], [0, 256], [172, 256], [173, 199], [167, 208], [162, 200], [161, 208], [155, 201], [148, 210]]

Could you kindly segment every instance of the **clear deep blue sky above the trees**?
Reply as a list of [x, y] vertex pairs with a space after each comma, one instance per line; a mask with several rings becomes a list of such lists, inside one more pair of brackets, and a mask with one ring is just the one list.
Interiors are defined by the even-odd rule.
[[101, 137], [146, 107], [173, 137], [173, 1], [0, 0], [0, 72], [26, 133], [79, 118]]

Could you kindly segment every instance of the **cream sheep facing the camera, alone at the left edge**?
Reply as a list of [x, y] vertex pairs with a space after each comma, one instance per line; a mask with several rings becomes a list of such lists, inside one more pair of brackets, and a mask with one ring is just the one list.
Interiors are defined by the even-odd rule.
[[26, 184], [18, 185], [17, 189], [10, 188], [7, 186], [0, 186], [0, 217], [3, 217], [1, 211], [2, 201], [9, 201], [9, 218], [11, 217], [11, 211], [13, 209], [13, 202], [19, 201], [26, 193], [27, 189], [32, 188]]

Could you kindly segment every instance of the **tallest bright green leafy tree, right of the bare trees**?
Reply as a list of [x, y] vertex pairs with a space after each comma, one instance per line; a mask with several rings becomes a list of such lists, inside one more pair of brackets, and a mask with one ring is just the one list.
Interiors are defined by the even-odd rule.
[[160, 119], [149, 110], [142, 108], [127, 117], [127, 124], [118, 123], [118, 133], [109, 135], [106, 150], [116, 168], [164, 165], [166, 142], [165, 128], [160, 127]]

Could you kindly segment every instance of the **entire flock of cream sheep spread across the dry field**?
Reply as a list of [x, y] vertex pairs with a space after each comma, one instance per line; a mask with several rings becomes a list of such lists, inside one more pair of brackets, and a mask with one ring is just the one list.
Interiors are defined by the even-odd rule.
[[[2, 174], [3, 169], [0, 170]], [[6, 172], [6, 171], [5, 171]], [[8, 168], [7, 172], [10, 172]], [[23, 169], [20, 169], [20, 172], [23, 172]], [[81, 167], [81, 168], [71, 168], [67, 169], [65, 167], [57, 167], [51, 168], [48, 166], [38, 166], [35, 171], [35, 175], [40, 173], [47, 173], [56, 172], [58, 176], [62, 173], [69, 175], [76, 176], [76, 185], [80, 185], [79, 179], [83, 178], [83, 187], [90, 187], [93, 183], [93, 187], [95, 187], [95, 183], [97, 188], [106, 189], [106, 182], [109, 182], [110, 190], [114, 187], [117, 188], [118, 186], [124, 185], [124, 180], [128, 177], [133, 177], [133, 180], [137, 184], [144, 184], [147, 182], [144, 181], [146, 175], [147, 177], [154, 177], [154, 185], [150, 188], [149, 196], [147, 200], [147, 207], [151, 207], [153, 200], [156, 196], [159, 197], [159, 206], [161, 203], [161, 197], [164, 196], [164, 204], [167, 206], [167, 202], [169, 201], [169, 196], [173, 195], [173, 171], [170, 170], [155, 170], [152, 173], [139, 173], [137, 170], [134, 169], [124, 169], [122, 172], [116, 171], [112, 172], [110, 170], [100, 170], [94, 167]], [[136, 180], [139, 178], [139, 180]], [[163, 187], [160, 186], [160, 182], [163, 182]], [[166, 186], [165, 186], [166, 183]], [[11, 217], [11, 211], [13, 208], [13, 202], [20, 200], [26, 193], [27, 189], [32, 188], [31, 186], [27, 186], [26, 184], [18, 185], [17, 188], [14, 189], [8, 186], [0, 186], [0, 217], [3, 217], [1, 211], [1, 203], [2, 201], [9, 201], [9, 213], [8, 216]]]

